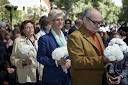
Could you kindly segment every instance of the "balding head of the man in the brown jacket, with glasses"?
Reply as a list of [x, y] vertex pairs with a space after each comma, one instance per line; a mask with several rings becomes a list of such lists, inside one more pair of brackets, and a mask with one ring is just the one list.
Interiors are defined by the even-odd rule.
[[91, 8], [83, 12], [82, 20], [83, 26], [90, 32], [95, 33], [99, 30], [103, 17], [97, 9]]

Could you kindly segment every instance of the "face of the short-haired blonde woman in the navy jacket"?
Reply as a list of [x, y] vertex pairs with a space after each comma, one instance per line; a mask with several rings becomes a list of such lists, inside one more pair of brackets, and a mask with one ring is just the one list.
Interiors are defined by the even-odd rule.
[[61, 30], [64, 25], [64, 20], [62, 16], [56, 17], [56, 19], [53, 20], [53, 28]]

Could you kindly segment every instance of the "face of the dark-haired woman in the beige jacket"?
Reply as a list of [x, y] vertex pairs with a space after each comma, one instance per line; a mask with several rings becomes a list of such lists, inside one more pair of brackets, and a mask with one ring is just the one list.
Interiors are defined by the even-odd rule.
[[23, 30], [26, 36], [31, 36], [34, 34], [34, 25], [32, 23], [27, 23]]

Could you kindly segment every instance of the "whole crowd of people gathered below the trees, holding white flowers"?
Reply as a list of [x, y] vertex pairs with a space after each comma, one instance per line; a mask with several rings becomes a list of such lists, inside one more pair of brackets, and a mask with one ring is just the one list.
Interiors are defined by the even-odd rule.
[[38, 23], [0, 24], [0, 85], [128, 85], [128, 28], [100, 30], [95, 8], [74, 23], [64, 16], [57, 8]]

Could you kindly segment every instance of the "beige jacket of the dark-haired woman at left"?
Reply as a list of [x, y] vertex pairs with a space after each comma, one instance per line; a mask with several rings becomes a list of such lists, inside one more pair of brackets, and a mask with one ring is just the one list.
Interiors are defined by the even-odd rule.
[[[17, 68], [17, 75], [19, 83], [36, 82], [37, 69], [37, 51], [29, 39], [21, 36], [15, 39], [12, 55], [10, 57], [11, 63]], [[22, 66], [22, 61], [30, 59], [31, 65]]]

